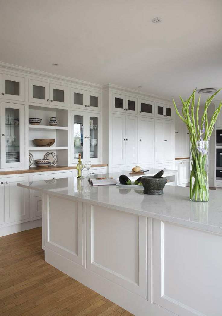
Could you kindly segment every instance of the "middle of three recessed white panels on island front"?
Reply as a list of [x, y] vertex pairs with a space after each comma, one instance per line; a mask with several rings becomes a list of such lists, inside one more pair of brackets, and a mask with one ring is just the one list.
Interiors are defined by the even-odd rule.
[[146, 218], [86, 204], [86, 226], [86, 268], [146, 297]]

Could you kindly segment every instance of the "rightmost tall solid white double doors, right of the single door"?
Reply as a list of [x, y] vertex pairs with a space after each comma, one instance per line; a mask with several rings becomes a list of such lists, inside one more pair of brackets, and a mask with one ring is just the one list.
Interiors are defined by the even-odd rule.
[[155, 123], [155, 156], [157, 163], [174, 159], [173, 143], [173, 121], [157, 119]]

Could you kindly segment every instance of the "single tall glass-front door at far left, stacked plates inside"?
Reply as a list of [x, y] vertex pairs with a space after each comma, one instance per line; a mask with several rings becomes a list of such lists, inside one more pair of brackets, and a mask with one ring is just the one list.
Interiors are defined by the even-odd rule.
[[0, 103], [1, 168], [25, 167], [25, 106]]

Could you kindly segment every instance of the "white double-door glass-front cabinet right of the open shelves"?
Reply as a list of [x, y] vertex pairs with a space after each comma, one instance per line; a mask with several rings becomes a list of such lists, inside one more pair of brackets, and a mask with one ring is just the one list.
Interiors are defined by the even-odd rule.
[[71, 111], [71, 163], [101, 161], [101, 114]]

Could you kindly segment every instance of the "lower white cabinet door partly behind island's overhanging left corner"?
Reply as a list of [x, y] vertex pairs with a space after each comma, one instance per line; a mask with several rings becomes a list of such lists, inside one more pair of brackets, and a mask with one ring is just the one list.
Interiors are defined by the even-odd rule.
[[28, 190], [17, 183], [28, 182], [28, 176], [5, 178], [5, 223], [22, 221], [29, 218]]

